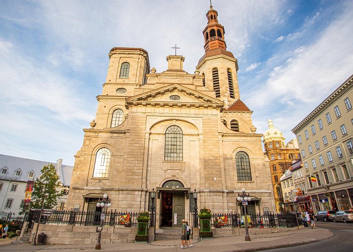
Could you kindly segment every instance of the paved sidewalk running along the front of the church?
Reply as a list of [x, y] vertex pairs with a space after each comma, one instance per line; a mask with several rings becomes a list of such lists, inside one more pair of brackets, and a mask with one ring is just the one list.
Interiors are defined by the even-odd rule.
[[[289, 247], [310, 242], [316, 242], [331, 237], [327, 229], [302, 228], [288, 232], [257, 234], [251, 236], [251, 241], [245, 241], [244, 236], [228, 236], [213, 238], [211, 240], [192, 240], [193, 247], [187, 251], [257, 251], [278, 247]], [[5, 242], [4, 242], [5, 243]], [[85, 245], [40, 245], [30, 244], [1, 244], [1, 250], [7, 251], [96, 251], [95, 244]], [[151, 243], [109, 243], [102, 244], [102, 251], [179, 251], [180, 240], [158, 240]], [[183, 251], [183, 250], [181, 250]]]

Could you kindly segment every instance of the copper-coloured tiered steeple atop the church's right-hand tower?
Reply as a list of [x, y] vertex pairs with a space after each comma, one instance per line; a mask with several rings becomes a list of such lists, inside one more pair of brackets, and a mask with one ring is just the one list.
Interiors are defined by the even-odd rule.
[[213, 10], [212, 5], [210, 5], [210, 10], [206, 14], [207, 26], [203, 30], [203, 35], [205, 38], [205, 52], [217, 48], [226, 49], [224, 41], [224, 27], [218, 23], [217, 16], [217, 11]]

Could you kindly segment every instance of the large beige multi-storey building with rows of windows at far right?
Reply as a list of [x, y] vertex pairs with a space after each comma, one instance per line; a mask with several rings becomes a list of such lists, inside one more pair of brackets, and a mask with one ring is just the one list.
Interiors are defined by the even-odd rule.
[[347, 210], [352, 206], [351, 102], [353, 75], [292, 129], [302, 152], [306, 182], [315, 211]]

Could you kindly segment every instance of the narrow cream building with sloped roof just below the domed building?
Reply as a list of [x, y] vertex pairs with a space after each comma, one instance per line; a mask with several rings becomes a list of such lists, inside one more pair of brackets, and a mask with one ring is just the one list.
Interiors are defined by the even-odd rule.
[[[279, 179], [282, 184], [282, 193], [284, 204], [282, 205], [283, 211], [294, 212], [293, 201], [296, 201], [296, 195], [293, 194], [292, 190], [295, 190], [296, 187], [293, 184], [292, 173], [288, 169]], [[293, 197], [294, 196], [294, 197]], [[297, 207], [296, 207], [296, 210]]]

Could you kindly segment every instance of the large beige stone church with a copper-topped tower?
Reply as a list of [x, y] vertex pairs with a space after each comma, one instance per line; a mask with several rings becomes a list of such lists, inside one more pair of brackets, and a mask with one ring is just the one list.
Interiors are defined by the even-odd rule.
[[112, 210], [148, 210], [154, 190], [157, 228], [176, 227], [191, 220], [195, 190], [198, 209], [242, 213], [236, 198], [244, 187], [249, 213], [276, 210], [262, 134], [240, 99], [237, 59], [212, 6], [206, 17], [195, 74], [183, 70], [181, 55], [167, 56], [167, 70], [157, 73], [142, 48], [110, 50], [96, 118], [75, 155], [69, 209], [98, 211], [107, 194]]

